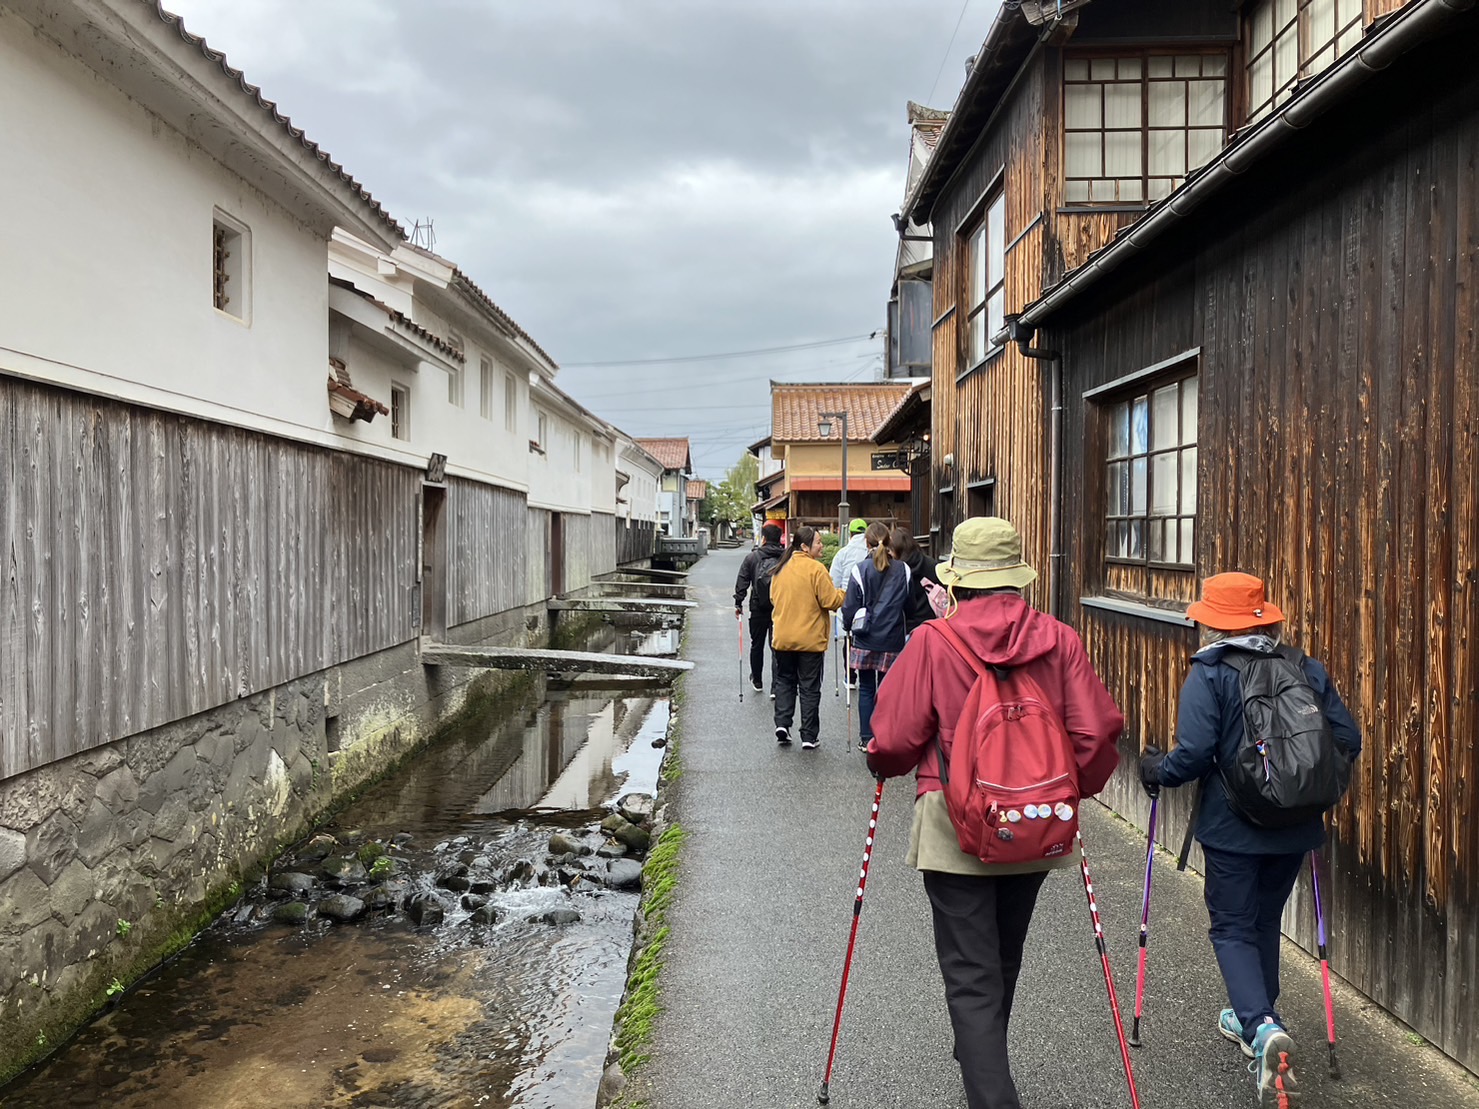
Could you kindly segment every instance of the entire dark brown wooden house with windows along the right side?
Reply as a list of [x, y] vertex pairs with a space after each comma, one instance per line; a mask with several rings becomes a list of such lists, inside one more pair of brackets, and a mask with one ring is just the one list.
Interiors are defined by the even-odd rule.
[[[1367, 742], [1331, 821], [1333, 964], [1479, 1068], [1479, 10], [1028, 7], [911, 198], [936, 525], [1019, 523], [1037, 602], [1126, 710], [1106, 800], [1139, 819], [1186, 602], [1265, 577]], [[1302, 895], [1287, 930], [1312, 924]]]

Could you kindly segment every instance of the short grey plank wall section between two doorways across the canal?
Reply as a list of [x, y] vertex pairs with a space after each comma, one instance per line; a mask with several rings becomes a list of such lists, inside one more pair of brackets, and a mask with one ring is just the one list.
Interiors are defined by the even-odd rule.
[[529, 591], [525, 495], [464, 478], [447, 486], [448, 625], [521, 608]]

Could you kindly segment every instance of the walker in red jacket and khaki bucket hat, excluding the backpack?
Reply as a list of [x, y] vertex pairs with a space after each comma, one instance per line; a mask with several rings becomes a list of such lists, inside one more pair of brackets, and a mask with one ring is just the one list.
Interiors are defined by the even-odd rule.
[[[950, 627], [986, 665], [1021, 668], [1037, 682], [1072, 739], [1080, 796], [1099, 793], [1120, 759], [1115, 741], [1124, 717], [1077, 633], [1022, 599], [1037, 571], [1022, 560], [1016, 528], [995, 516], [964, 520], [938, 572], [952, 599]], [[1022, 949], [1047, 871], [1074, 865], [1074, 855], [988, 866], [960, 849], [941, 793], [935, 736], [950, 759], [975, 677], [933, 621], [920, 625], [879, 688], [868, 769], [883, 776], [916, 772], [908, 862], [923, 872], [933, 909], [935, 951], [970, 1109], [1021, 1109], [1007, 1062], [1007, 1022]]]

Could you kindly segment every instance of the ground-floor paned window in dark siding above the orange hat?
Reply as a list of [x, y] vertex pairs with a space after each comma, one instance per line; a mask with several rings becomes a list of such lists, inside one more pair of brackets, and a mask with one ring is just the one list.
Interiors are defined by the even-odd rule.
[[1197, 562], [1197, 377], [1106, 407], [1105, 557], [1157, 566]]

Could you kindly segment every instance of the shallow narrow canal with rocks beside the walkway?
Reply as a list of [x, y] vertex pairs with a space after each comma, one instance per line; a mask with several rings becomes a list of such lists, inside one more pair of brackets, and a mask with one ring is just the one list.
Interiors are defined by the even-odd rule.
[[[598, 636], [589, 649], [677, 649], [673, 630]], [[544, 677], [488, 704], [287, 852], [0, 1105], [593, 1106], [637, 903], [623, 887], [636, 864], [609, 858], [623, 849], [599, 824], [655, 791], [667, 725], [666, 692]], [[574, 850], [552, 855], [555, 835]], [[325, 880], [355, 862], [364, 878]], [[308, 881], [288, 875], [314, 887], [269, 889]], [[333, 921], [336, 887], [367, 911]], [[317, 908], [281, 923], [294, 903]]]

